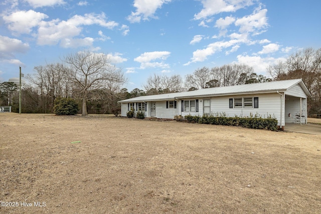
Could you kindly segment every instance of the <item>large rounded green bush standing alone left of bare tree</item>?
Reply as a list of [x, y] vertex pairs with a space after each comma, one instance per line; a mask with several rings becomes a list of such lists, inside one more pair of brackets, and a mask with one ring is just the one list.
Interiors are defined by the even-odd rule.
[[54, 113], [56, 115], [75, 115], [78, 111], [78, 104], [72, 98], [57, 97], [54, 101]]

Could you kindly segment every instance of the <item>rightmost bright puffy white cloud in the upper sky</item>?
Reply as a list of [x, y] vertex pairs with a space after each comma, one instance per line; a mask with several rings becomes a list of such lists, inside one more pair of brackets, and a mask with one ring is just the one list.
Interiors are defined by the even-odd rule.
[[257, 30], [267, 27], [266, 9], [256, 9], [253, 14], [244, 16], [235, 21], [235, 26], [240, 26], [240, 33], [254, 32], [258, 34]]

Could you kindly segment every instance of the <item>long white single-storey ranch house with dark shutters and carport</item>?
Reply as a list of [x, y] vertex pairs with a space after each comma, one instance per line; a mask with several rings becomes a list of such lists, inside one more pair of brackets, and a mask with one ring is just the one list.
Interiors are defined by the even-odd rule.
[[302, 79], [206, 88], [196, 91], [140, 96], [121, 100], [121, 116], [142, 111], [146, 118], [174, 119], [175, 115], [273, 117], [285, 123], [307, 123], [307, 97]]

